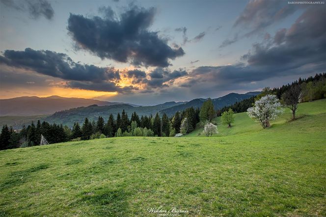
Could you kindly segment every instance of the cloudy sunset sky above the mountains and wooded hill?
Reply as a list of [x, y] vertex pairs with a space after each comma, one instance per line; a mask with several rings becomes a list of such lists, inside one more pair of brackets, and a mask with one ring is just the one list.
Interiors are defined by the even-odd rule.
[[155, 105], [326, 72], [326, 5], [0, 0], [0, 98]]

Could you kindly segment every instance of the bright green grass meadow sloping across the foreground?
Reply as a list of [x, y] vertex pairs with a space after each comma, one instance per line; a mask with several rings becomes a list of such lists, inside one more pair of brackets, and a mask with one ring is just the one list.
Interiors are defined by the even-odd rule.
[[326, 216], [326, 100], [290, 117], [0, 151], [0, 216]]

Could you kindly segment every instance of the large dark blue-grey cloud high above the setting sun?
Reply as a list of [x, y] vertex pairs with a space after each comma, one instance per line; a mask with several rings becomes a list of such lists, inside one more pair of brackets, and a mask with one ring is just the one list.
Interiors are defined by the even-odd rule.
[[[111, 10], [108, 10], [111, 11]], [[132, 6], [119, 16], [91, 18], [70, 14], [68, 30], [78, 47], [97, 56], [130, 62], [133, 65], [169, 66], [169, 59], [185, 54], [182, 48], [173, 49], [167, 40], [150, 31], [155, 9]]]

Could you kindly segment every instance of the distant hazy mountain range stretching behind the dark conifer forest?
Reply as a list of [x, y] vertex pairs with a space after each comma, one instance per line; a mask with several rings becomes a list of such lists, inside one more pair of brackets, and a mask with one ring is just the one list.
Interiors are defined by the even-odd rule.
[[[230, 93], [212, 99], [212, 101], [215, 109], [221, 109], [224, 106], [232, 105], [259, 93], [260, 92], [248, 92], [245, 94]], [[7, 124], [13, 126], [14, 129], [20, 129], [23, 125], [29, 124], [34, 118], [34, 121], [40, 119], [41, 121], [63, 124], [71, 127], [74, 122], [82, 124], [85, 117], [89, 118], [91, 121], [96, 120], [99, 116], [107, 120], [111, 113], [116, 117], [118, 112], [121, 114], [123, 109], [127, 112], [129, 117], [134, 111], [136, 111], [139, 116], [155, 115], [157, 112], [161, 115], [166, 113], [168, 116], [172, 116], [176, 111], [182, 111], [190, 107], [200, 108], [206, 100], [207, 99], [199, 98], [189, 102], [166, 102], [155, 106], [136, 106], [125, 103], [112, 103], [82, 98], [64, 98], [59, 96], [45, 98], [18, 97], [0, 101], [0, 126]], [[31, 117], [28, 115], [38, 116]]]

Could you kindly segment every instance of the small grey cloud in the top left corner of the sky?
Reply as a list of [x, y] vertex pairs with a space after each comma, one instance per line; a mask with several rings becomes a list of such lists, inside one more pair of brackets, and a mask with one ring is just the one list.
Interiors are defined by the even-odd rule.
[[47, 0], [1, 0], [1, 3], [16, 10], [28, 11], [33, 19], [44, 16], [46, 19], [51, 20], [54, 16], [51, 3]]

